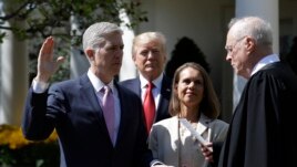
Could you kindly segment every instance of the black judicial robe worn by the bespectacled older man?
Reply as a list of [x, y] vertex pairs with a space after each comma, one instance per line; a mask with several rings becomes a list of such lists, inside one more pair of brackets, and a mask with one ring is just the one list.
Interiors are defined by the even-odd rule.
[[276, 62], [247, 82], [234, 112], [218, 167], [297, 166], [297, 76]]

